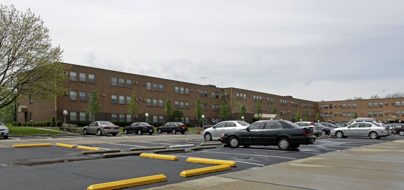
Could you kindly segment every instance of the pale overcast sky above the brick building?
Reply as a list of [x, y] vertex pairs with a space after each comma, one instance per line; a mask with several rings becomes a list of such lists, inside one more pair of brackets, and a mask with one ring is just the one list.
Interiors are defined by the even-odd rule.
[[404, 92], [403, 0], [1, 4], [39, 15], [64, 63], [310, 101]]

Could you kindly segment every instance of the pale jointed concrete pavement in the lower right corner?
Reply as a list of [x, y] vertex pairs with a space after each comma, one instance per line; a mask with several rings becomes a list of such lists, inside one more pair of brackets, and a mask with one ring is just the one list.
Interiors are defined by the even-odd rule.
[[402, 179], [404, 140], [396, 140], [149, 189], [402, 190]]

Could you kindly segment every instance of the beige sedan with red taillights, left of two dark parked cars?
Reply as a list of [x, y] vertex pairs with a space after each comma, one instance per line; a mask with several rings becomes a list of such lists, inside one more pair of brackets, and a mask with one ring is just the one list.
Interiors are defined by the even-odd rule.
[[119, 133], [119, 126], [112, 124], [109, 121], [95, 121], [83, 127], [84, 135], [88, 135], [90, 133], [96, 133], [99, 136], [103, 134], [112, 134], [112, 136], [116, 136]]

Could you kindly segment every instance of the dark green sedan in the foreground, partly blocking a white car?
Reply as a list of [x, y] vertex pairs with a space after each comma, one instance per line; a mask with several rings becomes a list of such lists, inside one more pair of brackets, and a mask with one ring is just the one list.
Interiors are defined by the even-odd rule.
[[220, 142], [231, 148], [238, 146], [278, 146], [280, 150], [296, 149], [301, 144], [314, 144], [313, 127], [300, 127], [287, 120], [261, 120], [246, 129], [223, 133]]

